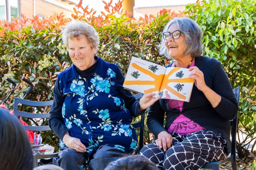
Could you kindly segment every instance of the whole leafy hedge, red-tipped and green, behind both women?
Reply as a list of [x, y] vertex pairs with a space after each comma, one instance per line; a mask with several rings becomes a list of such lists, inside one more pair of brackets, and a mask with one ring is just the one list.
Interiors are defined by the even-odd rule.
[[[210, 0], [189, 4], [183, 14], [170, 10], [161, 10], [157, 16], [145, 16], [139, 20], [131, 17], [131, 13], [121, 14], [120, 6], [111, 7], [109, 14], [102, 13], [96, 17], [87, 8], [81, 9], [84, 15], [73, 16], [75, 19], [85, 20], [95, 27], [100, 35], [98, 56], [107, 62], [116, 63], [122, 72], [126, 73], [129, 61], [136, 56], [160, 65], [169, 61], [158, 54], [158, 44], [162, 36], [164, 25], [174, 16], [186, 16], [195, 20], [203, 29], [204, 55], [218, 59], [233, 86], [240, 86], [239, 129], [253, 140], [256, 132], [256, 1], [244, 0]], [[23, 97], [28, 89], [20, 78], [25, 76], [34, 82], [35, 88], [28, 96], [29, 100], [52, 100], [52, 89], [56, 74], [71, 65], [68, 53], [61, 43], [61, 27], [69, 19], [61, 15], [40, 21], [38, 18], [30, 20], [26, 26], [26, 19], [21, 18], [15, 23], [0, 21], [0, 100], [3, 100], [11, 89], [4, 77], [11, 77], [18, 86], [14, 95], [9, 99], [12, 108], [13, 97]], [[46, 54], [46, 55], [45, 55]], [[54, 58], [49, 58], [55, 57]], [[42, 60], [39, 64], [39, 61]], [[40, 70], [38, 66], [46, 68]], [[32, 109], [27, 107], [25, 109]], [[46, 112], [49, 108], [42, 108], [37, 112]], [[30, 119], [23, 118], [28, 124]], [[35, 122], [35, 121], [34, 121]], [[38, 122], [35, 122], [38, 123]], [[47, 124], [45, 120], [42, 124]], [[43, 141], [51, 145], [58, 145], [59, 139], [52, 131], [41, 133]], [[147, 126], [145, 127], [145, 143], [152, 142], [153, 137]], [[240, 158], [247, 154], [246, 140], [237, 141]], [[255, 145], [255, 143], [254, 143]], [[57, 147], [56, 147], [57, 150]]]

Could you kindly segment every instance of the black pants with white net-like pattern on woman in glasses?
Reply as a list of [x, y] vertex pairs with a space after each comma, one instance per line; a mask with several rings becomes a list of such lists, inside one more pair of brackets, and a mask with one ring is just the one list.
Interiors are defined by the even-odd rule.
[[153, 142], [142, 148], [140, 154], [166, 170], [197, 170], [208, 162], [227, 157], [226, 141], [212, 131], [203, 129], [187, 135], [170, 134], [172, 146], [166, 152]]

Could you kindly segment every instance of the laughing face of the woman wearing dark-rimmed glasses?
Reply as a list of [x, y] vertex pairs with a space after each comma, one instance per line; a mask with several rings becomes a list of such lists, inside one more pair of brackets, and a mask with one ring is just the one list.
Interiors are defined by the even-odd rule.
[[[176, 23], [172, 24], [170, 28], [168, 29], [168, 32], [172, 33], [174, 31], [179, 31], [179, 28]], [[165, 41], [165, 46], [167, 48], [167, 51], [169, 55], [173, 59], [181, 59], [184, 56], [184, 43], [185, 35], [181, 33], [180, 37], [178, 39], [173, 39], [172, 36], [168, 38], [168, 40]]]

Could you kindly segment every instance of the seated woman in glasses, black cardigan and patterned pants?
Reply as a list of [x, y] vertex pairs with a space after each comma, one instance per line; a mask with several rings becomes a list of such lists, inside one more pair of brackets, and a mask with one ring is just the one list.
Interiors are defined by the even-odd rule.
[[[221, 63], [202, 54], [202, 29], [190, 18], [173, 18], [163, 31], [160, 54], [195, 79], [189, 102], [160, 99], [150, 108], [148, 129], [157, 137], [141, 155], [167, 170], [196, 170], [231, 151], [230, 122], [238, 103]], [[166, 114], [166, 124], [164, 116]]]

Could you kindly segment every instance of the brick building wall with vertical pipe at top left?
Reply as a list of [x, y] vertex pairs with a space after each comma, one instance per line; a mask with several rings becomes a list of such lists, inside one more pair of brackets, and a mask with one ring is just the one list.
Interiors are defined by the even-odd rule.
[[[27, 18], [32, 18], [34, 14], [33, 0], [20, 0], [20, 4], [21, 4], [20, 12], [24, 14]], [[66, 18], [71, 18], [71, 14], [74, 13], [71, 10], [67, 10], [65, 8], [59, 7], [58, 5], [48, 3], [44, 0], [36, 0], [35, 4], [36, 4], [35, 13], [39, 17], [51, 16], [51, 15], [54, 15], [54, 12], [56, 14], [60, 14], [61, 12], [63, 12]]]

